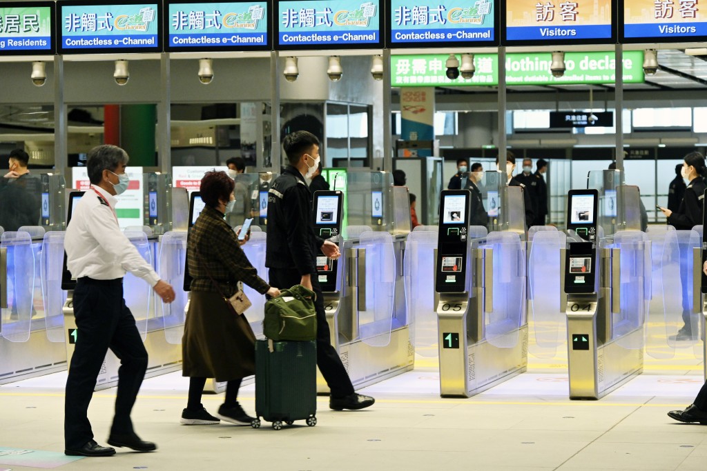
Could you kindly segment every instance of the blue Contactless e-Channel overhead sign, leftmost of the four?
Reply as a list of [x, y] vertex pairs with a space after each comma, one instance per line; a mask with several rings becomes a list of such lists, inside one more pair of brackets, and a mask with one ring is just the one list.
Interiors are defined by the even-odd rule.
[[59, 54], [162, 52], [162, 4], [126, 0], [62, 1], [59, 7]]

